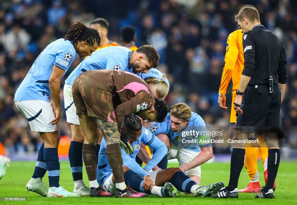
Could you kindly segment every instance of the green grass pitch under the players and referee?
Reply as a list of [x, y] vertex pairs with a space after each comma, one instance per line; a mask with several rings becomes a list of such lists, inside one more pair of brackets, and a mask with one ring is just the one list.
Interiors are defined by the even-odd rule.
[[[15, 202], [1, 201], [0, 204], [124, 204], [124, 205], [194, 205], [194, 204], [297, 204], [297, 162], [281, 161], [277, 175], [277, 189], [275, 199], [256, 199], [254, 193], [239, 193], [238, 199], [213, 199], [213, 198], [194, 198], [192, 195], [179, 194], [175, 198], [160, 198], [157, 196], [146, 196], [145, 198], [91, 198], [88, 196], [80, 198], [46, 198], [39, 194], [31, 193], [26, 190], [26, 183], [31, 178], [34, 171], [34, 162], [11, 162], [7, 168], [6, 175], [0, 181], [0, 197], [28, 197], [28, 201]], [[168, 164], [168, 167], [176, 167], [177, 164]], [[60, 184], [65, 189], [73, 190], [73, 180], [70, 171], [69, 162], [60, 163]], [[260, 185], [264, 185], [263, 166], [258, 163]], [[201, 185], [208, 185], [214, 182], [224, 182], [225, 185], [229, 181], [230, 163], [209, 163], [202, 166]], [[83, 178], [87, 186], [88, 177], [84, 169]], [[43, 178], [48, 185], [48, 177]], [[249, 183], [249, 177], [242, 169], [239, 179], [238, 188], [244, 188]]]

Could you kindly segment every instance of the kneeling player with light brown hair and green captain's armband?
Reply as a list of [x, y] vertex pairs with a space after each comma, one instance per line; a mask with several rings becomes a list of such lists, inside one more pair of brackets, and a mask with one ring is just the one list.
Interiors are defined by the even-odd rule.
[[209, 136], [198, 137], [198, 139], [205, 139], [206, 143], [182, 143], [183, 139], [188, 139], [189, 136], [180, 136], [178, 132], [187, 131], [190, 127], [207, 131], [203, 119], [198, 114], [191, 112], [187, 104], [178, 103], [171, 106], [170, 113], [167, 114], [164, 122], [154, 123], [149, 130], [168, 148], [167, 156], [161, 160], [156, 169], [166, 169], [167, 159], [176, 158], [179, 162], [178, 168], [200, 185], [201, 164], [212, 158], [212, 147]]

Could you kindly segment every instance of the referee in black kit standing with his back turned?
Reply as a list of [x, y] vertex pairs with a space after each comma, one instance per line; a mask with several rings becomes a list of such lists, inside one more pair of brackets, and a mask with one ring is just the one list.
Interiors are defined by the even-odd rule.
[[[257, 9], [244, 7], [235, 20], [244, 33], [244, 69], [234, 103], [238, 113], [234, 137], [247, 139], [253, 132], [251, 128], [280, 125], [287, 80], [286, 51], [278, 37], [260, 24]], [[272, 188], [280, 160], [277, 134], [266, 131], [266, 144], [268, 180], [256, 198], [274, 198]], [[233, 144], [229, 185], [213, 198], [238, 198], [237, 185], [244, 160], [245, 143]]]

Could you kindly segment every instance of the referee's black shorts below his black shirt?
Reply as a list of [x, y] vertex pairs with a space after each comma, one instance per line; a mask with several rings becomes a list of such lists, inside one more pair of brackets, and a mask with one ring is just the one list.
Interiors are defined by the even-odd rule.
[[262, 130], [281, 125], [281, 89], [278, 84], [273, 85], [273, 93], [268, 89], [267, 85], [247, 86], [240, 106], [243, 113], [237, 116], [236, 130], [261, 134]]

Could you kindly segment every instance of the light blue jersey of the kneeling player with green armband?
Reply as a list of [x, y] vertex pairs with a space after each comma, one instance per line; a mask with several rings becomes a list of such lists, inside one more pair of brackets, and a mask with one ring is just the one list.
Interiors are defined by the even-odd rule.
[[[170, 128], [170, 113], [167, 114], [164, 122], [162, 122], [162, 123], [156, 122], [149, 128], [149, 131], [152, 132], [154, 135], [167, 134], [170, 137], [171, 142], [176, 144], [178, 147], [184, 147], [184, 148], [192, 150], [194, 152], [200, 152], [201, 151], [200, 147], [211, 146], [211, 143], [199, 144], [198, 140], [195, 140], [194, 142], [191, 142], [191, 143], [186, 143], [185, 140], [192, 139], [193, 137], [192, 136], [182, 136], [182, 133], [191, 131], [191, 130], [208, 132], [204, 120], [202, 119], [202, 117], [200, 117], [200, 115], [198, 115], [195, 112], [192, 112], [192, 117], [189, 118], [189, 122], [187, 123], [186, 127], [183, 130], [181, 130], [180, 132], [176, 133], [171, 130], [171, 128]], [[198, 139], [199, 136], [200, 135], [198, 134], [196, 139]]]

